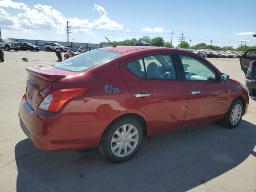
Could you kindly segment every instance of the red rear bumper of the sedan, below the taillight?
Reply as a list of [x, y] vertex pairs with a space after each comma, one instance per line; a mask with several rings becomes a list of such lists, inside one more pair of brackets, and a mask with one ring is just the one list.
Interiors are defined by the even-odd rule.
[[95, 148], [109, 121], [72, 122], [61, 112], [32, 110], [25, 95], [18, 110], [20, 126], [37, 148], [65, 150]]

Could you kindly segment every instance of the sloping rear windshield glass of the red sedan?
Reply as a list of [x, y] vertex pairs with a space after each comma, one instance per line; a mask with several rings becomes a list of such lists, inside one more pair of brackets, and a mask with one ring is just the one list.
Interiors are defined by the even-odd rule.
[[73, 71], [73, 72], [83, 72], [90, 70], [96, 66], [107, 63], [114, 58], [122, 56], [123, 53], [110, 51], [110, 50], [92, 50], [85, 52], [83, 54], [74, 56], [67, 60], [64, 60], [56, 65], [55, 68]]

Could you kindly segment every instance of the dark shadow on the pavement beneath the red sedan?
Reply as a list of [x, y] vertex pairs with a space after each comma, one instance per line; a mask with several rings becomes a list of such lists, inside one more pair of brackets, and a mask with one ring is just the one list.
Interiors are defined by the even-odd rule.
[[212, 123], [156, 135], [122, 164], [96, 149], [48, 152], [25, 139], [15, 146], [17, 192], [186, 191], [256, 156], [255, 129], [242, 120], [232, 130]]

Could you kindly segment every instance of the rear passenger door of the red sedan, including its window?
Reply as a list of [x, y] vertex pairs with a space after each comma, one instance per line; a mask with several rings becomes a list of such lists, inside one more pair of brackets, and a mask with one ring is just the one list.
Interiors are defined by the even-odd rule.
[[174, 60], [171, 54], [155, 54], [120, 65], [135, 107], [148, 117], [151, 132], [177, 128], [183, 122], [187, 95]]

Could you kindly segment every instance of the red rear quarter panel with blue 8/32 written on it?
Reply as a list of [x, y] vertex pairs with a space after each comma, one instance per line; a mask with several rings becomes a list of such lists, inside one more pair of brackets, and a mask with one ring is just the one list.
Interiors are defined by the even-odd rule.
[[149, 128], [147, 117], [135, 109], [118, 61], [114, 60], [77, 76], [56, 80], [52, 84], [52, 90], [64, 87], [89, 89], [84, 96], [70, 100], [62, 108], [61, 112], [72, 122], [108, 120], [110, 123], [121, 115], [136, 113], [145, 119]]

